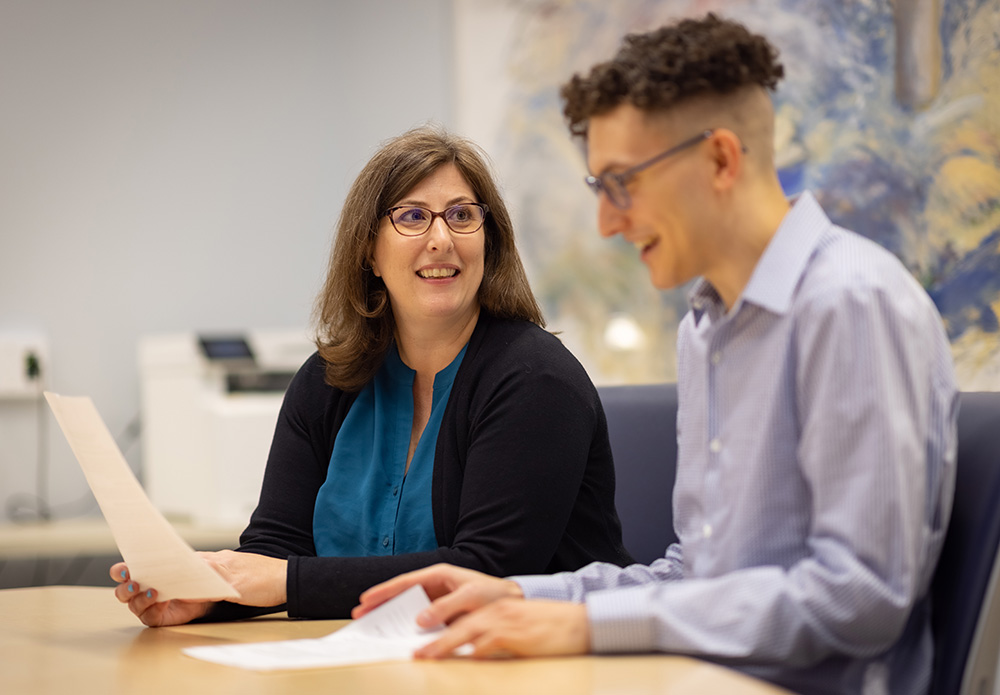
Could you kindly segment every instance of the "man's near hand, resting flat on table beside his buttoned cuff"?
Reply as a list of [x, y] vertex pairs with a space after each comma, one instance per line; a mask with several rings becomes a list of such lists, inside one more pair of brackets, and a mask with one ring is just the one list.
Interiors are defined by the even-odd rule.
[[471, 644], [478, 659], [569, 656], [590, 649], [587, 607], [563, 601], [502, 599], [459, 618], [438, 640], [414, 653], [439, 659]]

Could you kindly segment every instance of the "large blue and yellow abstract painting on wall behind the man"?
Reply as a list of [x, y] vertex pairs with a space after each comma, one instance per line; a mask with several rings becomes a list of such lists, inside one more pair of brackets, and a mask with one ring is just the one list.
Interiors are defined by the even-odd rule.
[[[456, 57], [496, 50], [502, 70], [460, 79], [459, 126], [494, 156], [550, 328], [595, 380], [676, 378], [686, 305], [652, 290], [634, 249], [599, 239], [558, 89], [625, 34], [714, 11], [780, 50], [786, 192], [813, 191], [896, 254], [944, 318], [961, 387], [1000, 389], [1000, 0], [509, 0], [491, 26], [463, 20], [486, 4], [458, 0], [456, 28], [477, 40]], [[487, 130], [475, 103], [493, 104]]]

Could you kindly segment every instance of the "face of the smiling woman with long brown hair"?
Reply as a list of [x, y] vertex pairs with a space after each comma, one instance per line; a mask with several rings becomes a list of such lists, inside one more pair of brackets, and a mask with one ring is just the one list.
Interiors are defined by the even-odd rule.
[[[410, 189], [401, 205], [441, 212], [479, 202], [454, 164], [445, 164]], [[485, 224], [471, 234], [453, 232], [441, 216], [420, 236], [399, 234], [388, 217], [379, 223], [372, 270], [389, 291], [397, 323], [445, 319], [462, 322], [479, 310]]]

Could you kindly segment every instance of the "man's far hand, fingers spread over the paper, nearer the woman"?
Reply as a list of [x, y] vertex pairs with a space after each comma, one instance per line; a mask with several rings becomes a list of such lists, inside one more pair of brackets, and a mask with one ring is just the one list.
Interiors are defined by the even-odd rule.
[[417, 584], [424, 587], [427, 596], [433, 601], [430, 608], [417, 616], [417, 624], [421, 627], [450, 623], [459, 616], [501, 598], [524, 597], [521, 587], [509, 579], [497, 579], [482, 572], [452, 565], [433, 565], [401, 574], [368, 589], [361, 594], [361, 604], [351, 611], [351, 617], [360, 618]]

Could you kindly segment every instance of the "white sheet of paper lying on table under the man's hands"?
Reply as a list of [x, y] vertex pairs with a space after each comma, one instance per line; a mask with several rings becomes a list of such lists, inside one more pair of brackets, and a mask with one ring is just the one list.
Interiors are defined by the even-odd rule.
[[184, 653], [205, 661], [255, 671], [324, 668], [406, 661], [444, 628], [424, 630], [417, 614], [430, 605], [423, 587], [410, 587], [347, 627], [318, 639], [188, 647]]

